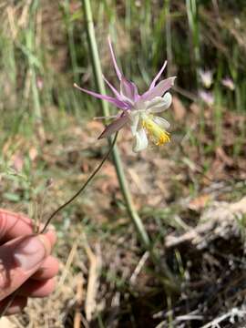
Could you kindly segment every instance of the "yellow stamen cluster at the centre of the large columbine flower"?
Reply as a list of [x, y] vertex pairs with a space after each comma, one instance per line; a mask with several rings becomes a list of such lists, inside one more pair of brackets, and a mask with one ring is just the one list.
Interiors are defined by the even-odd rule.
[[142, 118], [142, 127], [147, 129], [149, 136], [153, 138], [157, 146], [170, 141], [169, 132], [160, 128], [151, 118]]

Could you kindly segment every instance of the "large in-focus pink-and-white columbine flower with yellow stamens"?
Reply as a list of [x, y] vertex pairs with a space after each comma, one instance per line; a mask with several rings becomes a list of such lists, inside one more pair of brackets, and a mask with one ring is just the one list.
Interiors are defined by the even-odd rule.
[[148, 147], [149, 141], [147, 135], [149, 135], [149, 138], [157, 146], [169, 142], [169, 132], [166, 130], [169, 128], [169, 122], [165, 118], [155, 116], [155, 114], [169, 108], [172, 100], [171, 95], [167, 91], [173, 86], [175, 77], [169, 77], [157, 84], [160, 75], [167, 65], [167, 61], [161, 67], [158, 75], [151, 82], [149, 89], [140, 96], [138, 95], [138, 87], [134, 83], [128, 81], [119, 70], [109, 38], [108, 44], [118, 80], [120, 82], [119, 91], [113, 87], [105, 77], [104, 79], [115, 97], [100, 95], [75, 85], [75, 87], [79, 88], [81, 91], [84, 91], [93, 97], [107, 100], [117, 108], [121, 109], [121, 112], [116, 119], [105, 128], [99, 138], [106, 138], [120, 128], [129, 126], [135, 138], [133, 151], [137, 152]]

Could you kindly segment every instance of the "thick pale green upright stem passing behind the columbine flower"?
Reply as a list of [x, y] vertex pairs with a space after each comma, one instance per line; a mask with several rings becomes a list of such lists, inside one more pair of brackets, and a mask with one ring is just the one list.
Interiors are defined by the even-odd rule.
[[[84, 7], [85, 17], [86, 17], [86, 25], [87, 25], [87, 40], [88, 40], [88, 46], [90, 49], [91, 59], [92, 59], [92, 66], [94, 71], [94, 76], [96, 80], [97, 90], [101, 94], [105, 94], [105, 85], [102, 78], [102, 70], [101, 70], [101, 64], [100, 59], [98, 55], [97, 50], [97, 41], [95, 36], [95, 29], [93, 24], [93, 18], [92, 18], [92, 11], [90, 6], [90, 0], [82, 0], [82, 5]], [[108, 110], [108, 103], [104, 100], [100, 101], [100, 105], [103, 111], [104, 116], [109, 115]], [[108, 142], [111, 143], [111, 138], [108, 138]], [[144, 246], [145, 249], [149, 250], [150, 248], [150, 241], [149, 236], [147, 234], [147, 231], [144, 228], [144, 225], [142, 223], [142, 220], [138, 216], [137, 210], [134, 208], [133, 201], [131, 198], [130, 191], [128, 189], [128, 182], [124, 174], [124, 169], [122, 167], [122, 162], [120, 159], [120, 155], [118, 152], [118, 148], [114, 147], [112, 150], [112, 158], [114, 159], [115, 168], [118, 175], [118, 182], [120, 186], [120, 190], [122, 192], [122, 195], [124, 197], [126, 207], [128, 209], [128, 215], [130, 219], [133, 221], [136, 230], [138, 231], [139, 239]]]

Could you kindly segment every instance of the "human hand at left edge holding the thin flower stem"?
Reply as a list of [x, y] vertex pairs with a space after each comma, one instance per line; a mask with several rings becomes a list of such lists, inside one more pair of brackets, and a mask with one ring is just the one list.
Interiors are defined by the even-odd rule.
[[28, 297], [46, 297], [55, 289], [55, 232], [35, 235], [33, 228], [32, 220], [0, 209], [0, 312], [18, 288], [6, 314], [19, 313]]

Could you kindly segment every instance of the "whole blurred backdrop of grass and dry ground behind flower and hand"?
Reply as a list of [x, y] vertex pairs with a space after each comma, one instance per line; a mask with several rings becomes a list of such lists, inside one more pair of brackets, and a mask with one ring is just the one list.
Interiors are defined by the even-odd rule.
[[[244, 327], [246, 4], [244, 0], [91, 0], [105, 76], [111, 36], [124, 75], [144, 92], [163, 62], [177, 76], [165, 113], [171, 143], [119, 149], [159, 261], [182, 281], [163, 290], [138, 244], [111, 161], [53, 224], [56, 292], [13, 327]], [[45, 220], [108, 149], [83, 2], [0, 1], [1, 206]], [[110, 92], [108, 91], [108, 95]], [[110, 108], [116, 113], [115, 108]], [[76, 319], [75, 319], [76, 318]], [[79, 318], [79, 319], [77, 319]], [[241, 324], [241, 325], [240, 325]]]

